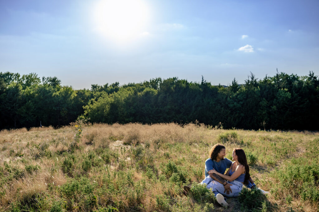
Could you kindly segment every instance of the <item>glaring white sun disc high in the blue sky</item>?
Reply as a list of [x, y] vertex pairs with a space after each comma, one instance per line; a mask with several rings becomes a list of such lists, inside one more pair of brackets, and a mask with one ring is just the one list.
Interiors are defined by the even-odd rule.
[[117, 42], [127, 42], [145, 31], [149, 10], [142, 0], [100, 0], [94, 9], [96, 30]]

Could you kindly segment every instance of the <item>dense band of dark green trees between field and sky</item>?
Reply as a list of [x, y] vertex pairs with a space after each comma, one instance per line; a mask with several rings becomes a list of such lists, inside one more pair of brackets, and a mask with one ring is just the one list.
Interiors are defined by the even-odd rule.
[[243, 85], [151, 79], [74, 90], [56, 77], [0, 72], [0, 129], [91, 122], [199, 122], [224, 128], [318, 130], [319, 78], [277, 72]]

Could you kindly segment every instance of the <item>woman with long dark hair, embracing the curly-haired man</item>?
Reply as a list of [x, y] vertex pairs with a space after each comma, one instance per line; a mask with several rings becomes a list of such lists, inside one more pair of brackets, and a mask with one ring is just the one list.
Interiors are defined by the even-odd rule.
[[230, 186], [232, 192], [227, 194], [223, 184], [214, 181], [214, 185], [212, 187], [213, 192], [218, 191], [219, 194], [216, 195], [216, 199], [217, 202], [219, 202], [219, 204], [223, 206], [227, 205], [227, 203], [224, 201], [223, 195], [227, 197], [239, 196], [244, 183], [247, 183], [250, 178], [249, 166], [244, 150], [241, 148], [234, 148], [232, 157], [234, 162], [232, 163], [226, 174], [220, 174], [214, 169], [209, 171], [209, 173], [218, 174], [221, 178], [227, 180], [229, 184], [232, 184]]

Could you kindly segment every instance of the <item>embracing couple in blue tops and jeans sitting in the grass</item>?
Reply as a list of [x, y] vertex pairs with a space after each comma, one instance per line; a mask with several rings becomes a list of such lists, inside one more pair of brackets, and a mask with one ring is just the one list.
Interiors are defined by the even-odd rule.
[[[233, 161], [224, 158], [226, 148], [223, 145], [216, 144], [211, 148], [210, 158], [205, 161], [205, 179], [201, 184], [206, 188], [212, 189], [217, 202], [222, 206], [228, 206], [227, 197], [239, 196], [243, 186], [255, 188], [253, 180], [250, 178], [249, 166], [246, 154], [241, 148], [234, 148]], [[225, 173], [226, 169], [228, 171]], [[187, 195], [190, 187], [184, 186], [184, 194]], [[262, 191], [264, 192], [264, 191]]]

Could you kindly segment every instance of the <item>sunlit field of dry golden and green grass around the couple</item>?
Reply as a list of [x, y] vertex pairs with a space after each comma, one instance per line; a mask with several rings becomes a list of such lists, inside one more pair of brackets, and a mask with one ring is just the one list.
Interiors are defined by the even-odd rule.
[[1, 131], [0, 210], [223, 211], [198, 185], [216, 143], [229, 159], [243, 148], [255, 183], [271, 193], [245, 189], [225, 211], [319, 210], [318, 132], [173, 123]]

